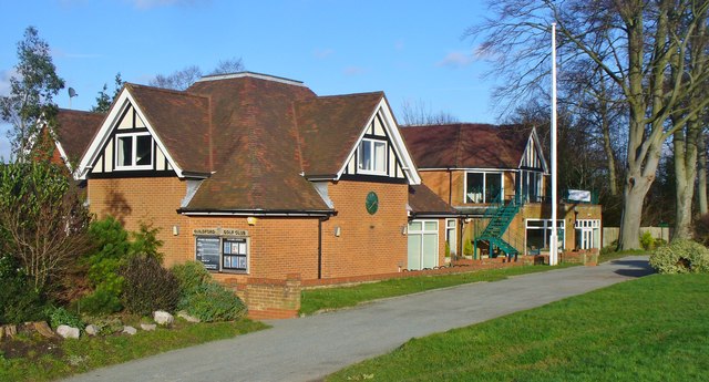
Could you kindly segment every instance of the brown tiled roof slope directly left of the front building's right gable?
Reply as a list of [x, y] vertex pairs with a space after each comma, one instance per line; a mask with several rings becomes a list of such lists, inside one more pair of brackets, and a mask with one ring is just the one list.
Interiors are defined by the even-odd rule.
[[322, 96], [295, 104], [306, 175], [335, 175], [357, 144], [382, 92]]

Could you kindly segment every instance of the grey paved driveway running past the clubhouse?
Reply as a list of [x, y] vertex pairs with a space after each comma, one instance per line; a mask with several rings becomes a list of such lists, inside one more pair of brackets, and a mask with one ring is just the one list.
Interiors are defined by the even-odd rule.
[[391, 298], [271, 321], [273, 329], [95, 370], [70, 381], [312, 381], [414, 337], [482, 322], [651, 272], [647, 257]]

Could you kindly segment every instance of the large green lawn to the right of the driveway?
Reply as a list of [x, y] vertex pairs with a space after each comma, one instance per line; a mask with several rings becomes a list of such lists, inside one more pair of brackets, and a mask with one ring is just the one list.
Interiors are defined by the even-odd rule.
[[709, 275], [654, 275], [413, 339], [327, 381], [706, 381]]

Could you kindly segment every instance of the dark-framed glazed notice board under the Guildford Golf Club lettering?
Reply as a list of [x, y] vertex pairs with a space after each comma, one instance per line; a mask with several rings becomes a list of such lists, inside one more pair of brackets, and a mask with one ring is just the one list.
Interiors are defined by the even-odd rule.
[[195, 260], [207, 270], [248, 272], [248, 237], [195, 236]]

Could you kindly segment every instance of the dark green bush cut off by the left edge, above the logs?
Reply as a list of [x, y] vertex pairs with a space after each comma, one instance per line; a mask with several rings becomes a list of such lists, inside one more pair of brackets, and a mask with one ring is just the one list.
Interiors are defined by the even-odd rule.
[[43, 296], [19, 262], [9, 256], [0, 257], [0, 323], [44, 320], [45, 309]]

